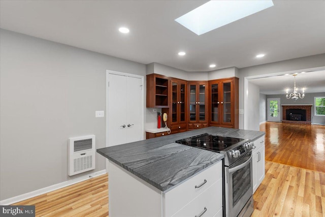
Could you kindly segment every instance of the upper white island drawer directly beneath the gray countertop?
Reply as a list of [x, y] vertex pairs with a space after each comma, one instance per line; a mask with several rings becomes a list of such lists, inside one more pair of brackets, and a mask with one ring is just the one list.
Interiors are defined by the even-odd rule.
[[[181, 183], [167, 192], [165, 196], [165, 216], [171, 216], [194, 198], [211, 187], [217, 180], [222, 179], [222, 161], [210, 166], [201, 173]], [[205, 181], [206, 180], [206, 181]], [[203, 184], [204, 183], [204, 184]], [[200, 188], [201, 184], [203, 184]], [[222, 187], [222, 182], [220, 183]], [[222, 191], [220, 191], [222, 197]], [[215, 212], [214, 212], [215, 213]], [[212, 214], [214, 214], [212, 213]], [[195, 215], [195, 214], [194, 214]]]

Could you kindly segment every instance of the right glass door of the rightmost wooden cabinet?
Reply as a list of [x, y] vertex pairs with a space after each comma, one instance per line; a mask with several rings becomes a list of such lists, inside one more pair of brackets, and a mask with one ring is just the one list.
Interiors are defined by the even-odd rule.
[[222, 123], [233, 122], [232, 81], [222, 82]]

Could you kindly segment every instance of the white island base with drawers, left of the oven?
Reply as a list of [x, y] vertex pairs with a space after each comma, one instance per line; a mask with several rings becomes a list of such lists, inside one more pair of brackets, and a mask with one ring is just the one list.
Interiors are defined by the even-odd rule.
[[161, 192], [110, 162], [109, 214], [115, 216], [222, 216], [222, 161]]

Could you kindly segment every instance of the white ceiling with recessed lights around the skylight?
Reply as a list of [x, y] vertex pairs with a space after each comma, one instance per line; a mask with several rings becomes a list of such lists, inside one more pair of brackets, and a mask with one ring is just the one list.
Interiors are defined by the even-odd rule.
[[[273, 1], [271, 8], [201, 36], [174, 21], [206, 2], [1, 0], [0, 27], [193, 72], [211, 71], [212, 63], [217, 65], [213, 70], [244, 68], [325, 53], [325, 1]], [[127, 26], [130, 33], [119, 33], [120, 26]], [[177, 55], [181, 50], [185, 56]], [[256, 58], [259, 53], [265, 57]], [[252, 82], [263, 87], [270, 83]]]

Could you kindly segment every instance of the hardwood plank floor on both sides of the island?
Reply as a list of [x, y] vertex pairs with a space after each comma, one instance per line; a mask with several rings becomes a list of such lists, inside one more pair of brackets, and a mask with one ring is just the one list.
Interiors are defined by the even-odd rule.
[[[286, 125], [261, 125], [266, 175], [254, 194], [252, 216], [325, 216], [325, 126]], [[15, 205], [36, 205], [36, 216], [108, 216], [108, 176]]]

